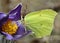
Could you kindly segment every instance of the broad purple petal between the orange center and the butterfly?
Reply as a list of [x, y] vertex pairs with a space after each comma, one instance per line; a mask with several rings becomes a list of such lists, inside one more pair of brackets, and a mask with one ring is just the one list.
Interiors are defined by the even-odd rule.
[[31, 30], [26, 30], [23, 24], [19, 21], [17, 21], [17, 25], [19, 26], [16, 34], [14, 35], [13, 40], [20, 39], [26, 35], [29, 35], [32, 31]]

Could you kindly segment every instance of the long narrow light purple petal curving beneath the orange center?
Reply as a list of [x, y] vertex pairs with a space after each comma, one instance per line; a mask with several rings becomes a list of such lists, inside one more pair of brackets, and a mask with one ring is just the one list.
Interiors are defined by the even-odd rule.
[[25, 37], [26, 35], [30, 35], [31, 30], [26, 31], [26, 32], [25, 32], [24, 34], [22, 34], [22, 35], [14, 35], [14, 36], [12, 36], [12, 35], [10, 35], [10, 34], [7, 34], [7, 33], [5, 33], [5, 32], [2, 32], [2, 33], [3, 33], [3, 35], [6, 36], [6, 39], [7, 39], [7, 40], [18, 40], [18, 39], [20, 39], [20, 38]]

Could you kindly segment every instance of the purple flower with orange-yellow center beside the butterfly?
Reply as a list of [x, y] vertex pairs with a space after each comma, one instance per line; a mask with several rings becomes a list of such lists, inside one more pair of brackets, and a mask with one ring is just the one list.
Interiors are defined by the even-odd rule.
[[19, 21], [21, 20], [21, 7], [21, 4], [19, 4], [7, 15], [0, 12], [0, 33], [4, 35], [7, 40], [17, 40], [31, 32]]

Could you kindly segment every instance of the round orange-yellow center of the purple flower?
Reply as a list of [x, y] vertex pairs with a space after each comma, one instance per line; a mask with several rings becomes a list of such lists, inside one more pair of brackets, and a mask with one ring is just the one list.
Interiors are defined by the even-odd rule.
[[18, 26], [16, 22], [13, 22], [11, 20], [7, 20], [7, 22], [2, 25], [2, 31], [11, 35], [15, 34], [17, 29], [18, 29]]

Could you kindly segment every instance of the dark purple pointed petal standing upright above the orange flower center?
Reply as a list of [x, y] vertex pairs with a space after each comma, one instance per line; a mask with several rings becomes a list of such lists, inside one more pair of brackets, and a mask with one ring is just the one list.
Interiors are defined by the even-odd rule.
[[20, 20], [21, 19], [21, 7], [22, 5], [19, 4], [15, 9], [9, 12], [9, 19], [11, 20]]

